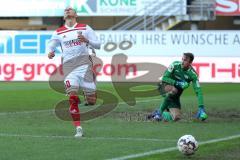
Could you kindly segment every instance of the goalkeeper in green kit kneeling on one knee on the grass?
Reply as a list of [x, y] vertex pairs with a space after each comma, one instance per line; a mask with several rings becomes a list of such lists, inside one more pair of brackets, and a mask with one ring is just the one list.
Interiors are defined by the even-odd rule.
[[168, 67], [159, 84], [159, 91], [164, 97], [164, 100], [159, 109], [147, 116], [148, 119], [156, 121], [180, 120], [180, 96], [182, 92], [189, 87], [191, 82], [198, 98], [198, 112], [196, 118], [202, 121], [207, 119], [198, 75], [192, 68], [193, 59], [194, 55], [192, 53], [184, 53], [182, 61], [175, 61]]

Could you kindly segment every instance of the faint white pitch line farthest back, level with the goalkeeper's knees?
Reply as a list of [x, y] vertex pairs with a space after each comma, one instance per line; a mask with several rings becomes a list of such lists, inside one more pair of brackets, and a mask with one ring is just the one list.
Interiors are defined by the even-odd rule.
[[[136, 103], [147, 103], [151, 101], [157, 101], [160, 99], [148, 99], [148, 100], [137, 100]], [[118, 105], [126, 104], [125, 102], [119, 102]], [[33, 111], [18, 111], [18, 112], [0, 112], [0, 116], [12, 115], [12, 114], [32, 114], [32, 113], [54, 113], [54, 109], [46, 109], [46, 110], [33, 110]]]

